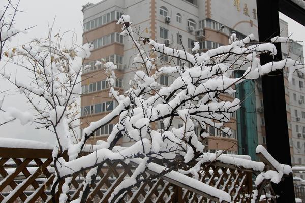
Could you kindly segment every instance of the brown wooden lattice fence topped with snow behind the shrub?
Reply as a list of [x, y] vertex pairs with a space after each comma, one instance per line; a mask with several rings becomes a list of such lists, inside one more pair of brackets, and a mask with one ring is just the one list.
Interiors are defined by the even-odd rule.
[[[28, 145], [26, 148], [17, 146], [13, 148], [12, 144], [8, 147], [0, 144], [0, 201], [51, 202], [50, 187], [55, 177], [52, 150], [49, 146], [42, 149], [43, 145], [33, 145], [33, 149]], [[225, 155], [219, 156], [216, 161], [203, 163], [198, 180], [172, 171], [147, 181], [162, 171], [157, 163], [149, 163], [148, 169], [140, 177], [144, 181], [128, 190], [121, 202], [250, 202], [252, 175], [261, 173], [264, 164], [236, 157], [236, 164], [232, 164], [230, 159], [222, 156]], [[133, 159], [128, 164], [124, 161], [106, 161], [86, 202], [108, 202], [114, 188], [131, 177], [140, 162], [139, 159]], [[86, 174], [83, 172], [73, 176], [68, 193], [70, 200], [78, 197]], [[218, 194], [212, 193], [215, 188], [219, 189]], [[60, 192], [59, 189], [57, 196]]]

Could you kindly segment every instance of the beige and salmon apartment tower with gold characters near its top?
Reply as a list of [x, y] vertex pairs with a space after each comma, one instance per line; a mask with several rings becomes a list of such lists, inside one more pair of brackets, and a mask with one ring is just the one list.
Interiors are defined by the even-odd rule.
[[[102, 118], [116, 105], [109, 98], [105, 73], [101, 71], [101, 65], [94, 65], [96, 61], [114, 61], [118, 66], [115, 88], [121, 92], [128, 89], [128, 82], [133, 77], [132, 63], [136, 50], [127, 38], [119, 35], [121, 29], [115, 22], [121, 14], [131, 16], [134, 29], [138, 28], [142, 37], [179, 49], [183, 43], [187, 51], [193, 48], [193, 42], [199, 41], [200, 48], [204, 50], [227, 45], [232, 31], [239, 38], [249, 33], [257, 36], [256, 7], [253, 1], [246, 2], [242, 4], [240, 1], [228, 1], [224, 4], [222, 1], [212, 0], [104, 0], [86, 5], [83, 9], [83, 42], [93, 42], [94, 50], [84, 65], [90, 67], [84, 69], [82, 74], [81, 128]], [[232, 14], [230, 18], [227, 13]], [[170, 61], [167, 57], [162, 57], [162, 60]], [[180, 61], [175, 62], [179, 65]], [[161, 85], [169, 85], [173, 78], [162, 76], [159, 80]], [[223, 95], [224, 100], [232, 100], [234, 97], [235, 95]], [[95, 139], [106, 139], [115, 122], [117, 120], [100, 129]], [[179, 127], [181, 121], [177, 119], [175, 124], [175, 127]], [[222, 137], [213, 128], [208, 129], [211, 134], [206, 143], [208, 150], [229, 149], [228, 153], [237, 153], [236, 114], [232, 115], [228, 126], [233, 132], [231, 138]], [[129, 142], [121, 140], [122, 145], [128, 145]], [[235, 143], [233, 148], [232, 143]]]

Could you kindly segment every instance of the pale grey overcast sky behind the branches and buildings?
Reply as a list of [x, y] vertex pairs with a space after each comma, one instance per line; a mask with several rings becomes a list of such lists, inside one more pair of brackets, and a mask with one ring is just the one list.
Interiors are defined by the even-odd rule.
[[[123, 0], [122, 0], [123, 1]], [[3, 3], [4, 1], [0, 1]], [[92, 3], [97, 3], [99, 0], [92, 0]], [[82, 5], [86, 4], [86, 0], [21, 0], [19, 9], [24, 11], [18, 13], [16, 18], [16, 27], [27, 28], [35, 26], [28, 30], [27, 35], [19, 35], [14, 39], [12, 44], [23, 44], [34, 37], [46, 37], [48, 33], [48, 24], [52, 24], [55, 19], [53, 33], [57, 33], [59, 29], [61, 32], [66, 30], [73, 30], [78, 35], [78, 43], [81, 44], [82, 38]], [[280, 17], [288, 22], [288, 29], [293, 33], [294, 40], [305, 40], [305, 28], [298, 23], [290, 20], [284, 15]], [[305, 45], [304, 42], [302, 42]], [[10, 89], [10, 93], [14, 93], [15, 88], [8, 85], [0, 79], [0, 91]], [[22, 110], [28, 110], [24, 99], [20, 95], [9, 95], [6, 97], [4, 106], [13, 105]], [[47, 130], [35, 130], [31, 125], [22, 126], [19, 121], [15, 121], [9, 125], [2, 126], [0, 130], [2, 137], [24, 138], [33, 140], [44, 140], [53, 142], [51, 134]]]

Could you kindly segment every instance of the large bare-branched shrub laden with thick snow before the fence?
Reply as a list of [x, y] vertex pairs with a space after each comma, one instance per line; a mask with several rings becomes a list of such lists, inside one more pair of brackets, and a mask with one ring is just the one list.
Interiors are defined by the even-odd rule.
[[[235, 85], [257, 79], [273, 70], [303, 67], [289, 58], [260, 65], [260, 54], [275, 55], [277, 50], [271, 43], [254, 43], [253, 35], [242, 40], [232, 35], [230, 45], [202, 53], [198, 50], [198, 43], [195, 43], [192, 51], [199, 53], [191, 54], [186, 50], [166, 47], [152, 39], [134, 37], [136, 34], [130, 26], [128, 15], [121, 16], [120, 23], [123, 24], [121, 35], [129, 36], [138, 51], [134, 58], [137, 70], [130, 88], [124, 94], [119, 94], [113, 88], [116, 66], [112, 62], [105, 64], [109, 94], [118, 105], [100, 120], [90, 123], [83, 130], [80, 140], [76, 139], [78, 125], [74, 122], [78, 115], [76, 101], [80, 96], [82, 61], [90, 56], [92, 45], [72, 45], [67, 49], [59, 44], [60, 40], [53, 40], [50, 32], [47, 39], [36, 39], [14, 51], [8, 51], [9, 57], [22, 56], [29, 61], [31, 65], [21, 67], [31, 71], [32, 82], [25, 84], [11, 81], [6, 72], [2, 73], [3, 77], [14, 83], [33, 105], [36, 113], [32, 115], [31, 121], [51, 130], [57, 139], [53, 150], [56, 174], [52, 187], [53, 201], [60, 180], [65, 183], [59, 199], [60, 202], [66, 202], [72, 176], [89, 171], [78, 199], [85, 202], [90, 186], [107, 160], [132, 160], [139, 165], [130, 179], [115, 188], [109, 199], [111, 202], [123, 197], [126, 189], [138, 183], [137, 177], [157, 160], [164, 163], [157, 167], [160, 174], [174, 170], [175, 175], [183, 173], [196, 178], [202, 163], [226, 159], [220, 157], [221, 152], [212, 155], [204, 153], [205, 146], [201, 140], [209, 135], [209, 126], [231, 136], [231, 130], [225, 127], [225, 123], [230, 121], [231, 113], [239, 108], [241, 101], [237, 98], [224, 101], [221, 94], [233, 93]], [[151, 47], [153, 54], [146, 52], [145, 46]], [[156, 55], [154, 52], [177, 58], [182, 61], [181, 65], [157, 66], [159, 58], [150, 57]], [[241, 67], [245, 67], [245, 74], [234, 77], [234, 70]], [[176, 78], [168, 86], [160, 85], [158, 78], [167, 74], [175, 74]], [[93, 153], [81, 156], [86, 142], [94, 136], [95, 131], [116, 118], [119, 121], [107, 142], [99, 142]], [[180, 119], [183, 125], [173, 127], [174, 119]], [[164, 127], [158, 127], [158, 123]], [[202, 129], [200, 139], [195, 133], [195, 124]], [[130, 139], [133, 144], [130, 147], [116, 146], [123, 137]], [[64, 159], [65, 152], [68, 159]], [[172, 165], [170, 169], [167, 168], [169, 163]]]

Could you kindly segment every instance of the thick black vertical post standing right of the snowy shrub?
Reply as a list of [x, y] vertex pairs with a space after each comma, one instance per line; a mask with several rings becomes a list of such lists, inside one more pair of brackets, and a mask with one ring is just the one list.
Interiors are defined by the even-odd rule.
[[[256, 3], [259, 41], [268, 42], [280, 35], [279, 0], [257, 0]], [[282, 59], [280, 43], [276, 43], [276, 48], [278, 53], [274, 60], [278, 61]], [[260, 61], [263, 65], [271, 62], [272, 57], [264, 54]], [[291, 166], [283, 72], [273, 71], [263, 76], [262, 86], [267, 150], [280, 163]], [[272, 187], [280, 196], [277, 203], [295, 202], [292, 175]]]

